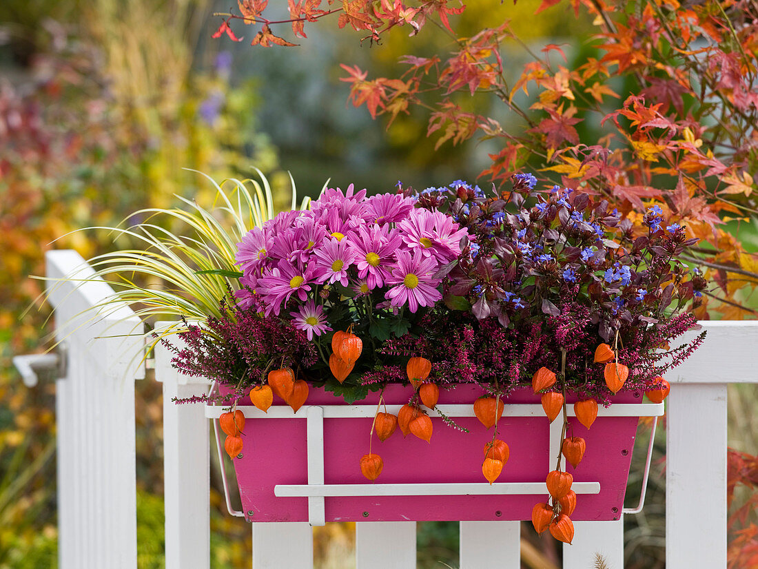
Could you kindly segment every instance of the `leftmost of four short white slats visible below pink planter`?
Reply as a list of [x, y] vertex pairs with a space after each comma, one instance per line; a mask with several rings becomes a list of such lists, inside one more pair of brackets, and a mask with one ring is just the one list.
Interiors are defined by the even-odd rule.
[[313, 528], [307, 521], [253, 522], [252, 569], [311, 569]]

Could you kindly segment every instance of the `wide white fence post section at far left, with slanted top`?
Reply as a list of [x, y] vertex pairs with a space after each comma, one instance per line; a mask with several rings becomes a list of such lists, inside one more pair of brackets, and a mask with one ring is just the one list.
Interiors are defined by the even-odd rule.
[[61, 569], [136, 567], [134, 380], [144, 377], [142, 323], [74, 251], [45, 255], [56, 336], [58, 561]]

